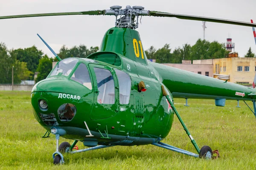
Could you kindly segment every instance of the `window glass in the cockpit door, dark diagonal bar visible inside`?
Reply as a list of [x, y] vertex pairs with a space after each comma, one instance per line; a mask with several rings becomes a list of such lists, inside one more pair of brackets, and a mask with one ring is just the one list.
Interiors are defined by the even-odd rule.
[[109, 70], [103, 68], [93, 68], [96, 74], [98, 86], [99, 104], [114, 104], [115, 103], [115, 85], [113, 75]]

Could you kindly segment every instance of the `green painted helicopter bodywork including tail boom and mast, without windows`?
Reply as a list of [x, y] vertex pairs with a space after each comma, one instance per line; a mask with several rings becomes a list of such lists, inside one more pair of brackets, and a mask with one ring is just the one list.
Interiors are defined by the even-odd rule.
[[[252, 88], [148, 62], [139, 33], [129, 28], [109, 29], [99, 52], [87, 58], [77, 58], [78, 62], [68, 76], [61, 73], [51, 76], [51, 72], [32, 90], [35, 118], [47, 130], [51, 127], [66, 130], [64, 138], [89, 141], [85, 137], [89, 133], [84, 122], [94, 136], [90, 140], [99, 144], [150, 144], [165, 138], [171, 130], [174, 112], [169, 108], [166, 96], [163, 96], [161, 85], [168, 89], [172, 101], [173, 97], [234, 100], [253, 100], [256, 97], [248, 95], [256, 94]], [[81, 63], [88, 69], [91, 89], [73, 78]], [[104, 79], [105, 82], [113, 81], [114, 91], [108, 94], [112, 104], [98, 102], [100, 91], [95, 68], [108, 70], [113, 77]], [[131, 79], [128, 104], [119, 102], [120, 87], [115, 69], [124, 71]], [[141, 81], [145, 83], [146, 91], [139, 91]], [[41, 99], [47, 101], [47, 111], [40, 108]], [[59, 107], [65, 103], [76, 107], [76, 114], [69, 121], [58, 115]], [[47, 115], [54, 116], [50, 121], [43, 121]]]

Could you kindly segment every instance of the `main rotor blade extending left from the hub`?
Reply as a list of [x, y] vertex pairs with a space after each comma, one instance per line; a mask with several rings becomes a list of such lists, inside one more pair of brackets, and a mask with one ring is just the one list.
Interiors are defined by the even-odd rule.
[[26, 14], [26, 15], [10, 15], [2, 16], [0, 19], [10, 18], [25, 18], [25, 17], [45, 17], [45, 16], [58, 16], [58, 15], [103, 15], [105, 10], [97, 11], [83, 11], [83, 12], [59, 12], [59, 13], [45, 13], [45, 14]]

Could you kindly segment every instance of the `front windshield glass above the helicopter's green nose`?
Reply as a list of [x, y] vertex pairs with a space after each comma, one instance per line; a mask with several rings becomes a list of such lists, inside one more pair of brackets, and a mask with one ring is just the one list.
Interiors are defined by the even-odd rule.
[[69, 76], [70, 72], [73, 70], [77, 62], [78, 59], [76, 58], [67, 58], [61, 60], [60, 62], [58, 62], [50, 76], [56, 76], [60, 73], [63, 76]]

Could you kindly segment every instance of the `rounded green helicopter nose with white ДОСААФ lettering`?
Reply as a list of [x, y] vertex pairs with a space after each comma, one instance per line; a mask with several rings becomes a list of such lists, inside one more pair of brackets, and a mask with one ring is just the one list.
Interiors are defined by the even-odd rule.
[[90, 118], [93, 96], [93, 91], [80, 83], [53, 77], [34, 86], [31, 103], [38, 122], [44, 127], [52, 127], [76, 122], [79, 115]]

